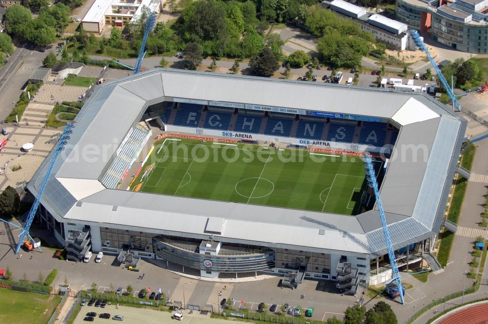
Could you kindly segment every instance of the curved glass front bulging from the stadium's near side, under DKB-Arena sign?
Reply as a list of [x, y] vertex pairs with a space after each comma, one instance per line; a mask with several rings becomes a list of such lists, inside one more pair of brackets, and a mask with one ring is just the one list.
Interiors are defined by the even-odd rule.
[[[209, 255], [200, 254], [191, 249], [165, 242], [163, 237], [153, 238], [154, 253], [170, 262], [182, 264], [193, 269], [212, 272], [249, 272], [271, 270], [275, 266], [275, 253], [272, 250], [262, 250], [259, 254], [242, 254], [242, 250], [236, 250], [235, 255]], [[226, 251], [230, 250], [230, 246]]]

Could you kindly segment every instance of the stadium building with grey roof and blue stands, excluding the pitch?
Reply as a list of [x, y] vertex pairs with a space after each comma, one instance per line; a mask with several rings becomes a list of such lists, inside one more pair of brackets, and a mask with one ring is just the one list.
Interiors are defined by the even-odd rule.
[[[466, 129], [426, 94], [167, 69], [98, 86], [75, 121], [36, 217], [71, 259], [91, 249], [208, 277], [268, 271], [288, 274], [290, 284], [332, 280], [345, 293], [391, 276], [380, 266], [386, 243], [373, 199], [346, 216], [123, 190], [160, 135], [149, 123], [193, 137], [380, 154], [401, 266], [432, 249]], [[27, 186], [34, 195], [49, 157]]]

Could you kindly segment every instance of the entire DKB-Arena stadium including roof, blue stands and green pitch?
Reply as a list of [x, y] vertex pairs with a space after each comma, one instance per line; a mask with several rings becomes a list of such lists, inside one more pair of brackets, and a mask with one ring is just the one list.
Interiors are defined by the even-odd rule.
[[431, 264], [466, 129], [426, 94], [173, 69], [98, 86], [75, 122], [35, 220], [68, 259], [264, 271], [346, 294], [391, 278], [362, 155], [400, 269]]

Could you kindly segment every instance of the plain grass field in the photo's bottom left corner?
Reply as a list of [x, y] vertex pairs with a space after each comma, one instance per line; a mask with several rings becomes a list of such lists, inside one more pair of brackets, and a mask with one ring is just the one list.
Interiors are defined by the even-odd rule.
[[0, 309], [3, 310], [0, 311], [0, 323], [45, 324], [60, 300], [60, 296], [1, 288]]

